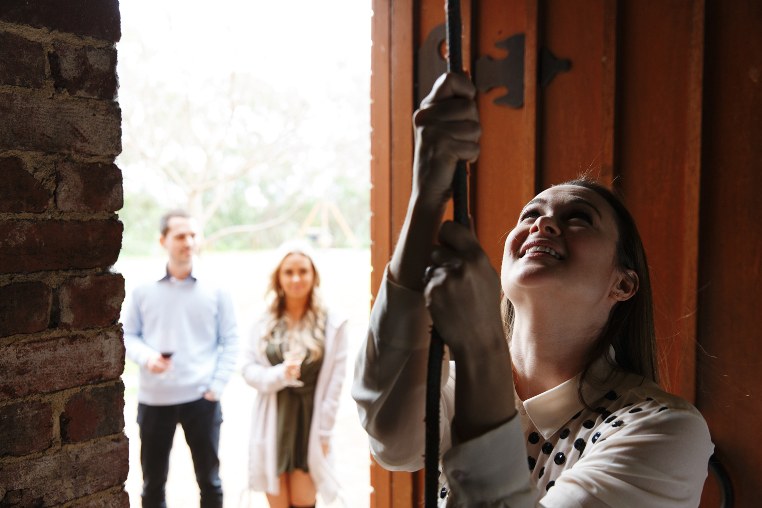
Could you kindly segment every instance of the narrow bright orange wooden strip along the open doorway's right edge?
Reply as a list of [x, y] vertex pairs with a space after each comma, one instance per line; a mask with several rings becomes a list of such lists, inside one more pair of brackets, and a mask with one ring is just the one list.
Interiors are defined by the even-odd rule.
[[[390, 84], [389, 84], [389, 0], [373, 0], [370, 65], [370, 262], [371, 290], [375, 298], [383, 270], [392, 254], [390, 235]], [[379, 508], [383, 508], [379, 506]]]

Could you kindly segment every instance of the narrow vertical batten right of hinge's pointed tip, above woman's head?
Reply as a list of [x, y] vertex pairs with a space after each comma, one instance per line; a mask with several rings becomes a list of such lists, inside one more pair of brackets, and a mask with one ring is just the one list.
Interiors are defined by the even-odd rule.
[[604, 0], [604, 57], [600, 97], [600, 123], [603, 141], [598, 177], [611, 187], [614, 175], [614, 124], [616, 123], [616, 4]]

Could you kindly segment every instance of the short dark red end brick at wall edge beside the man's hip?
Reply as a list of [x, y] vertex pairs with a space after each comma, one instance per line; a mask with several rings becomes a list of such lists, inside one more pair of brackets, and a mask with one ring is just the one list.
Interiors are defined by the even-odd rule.
[[124, 385], [78, 391], [61, 414], [61, 439], [78, 443], [116, 434], [124, 428]]

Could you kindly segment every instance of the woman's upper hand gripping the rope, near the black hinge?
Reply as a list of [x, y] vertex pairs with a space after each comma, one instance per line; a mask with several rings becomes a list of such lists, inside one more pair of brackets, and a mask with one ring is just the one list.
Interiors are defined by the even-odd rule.
[[479, 157], [482, 126], [475, 95], [469, 78], [444, 74], [413, 115], [413, 193], [427, 204], [444, 206], [451, 195], [456, 162], [474, 162]]

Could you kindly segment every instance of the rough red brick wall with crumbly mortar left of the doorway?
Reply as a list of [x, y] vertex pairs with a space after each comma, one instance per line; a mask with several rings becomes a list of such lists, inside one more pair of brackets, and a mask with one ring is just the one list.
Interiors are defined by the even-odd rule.
[[0, 506], [129, 506], [117, 0], [0, 2]]

